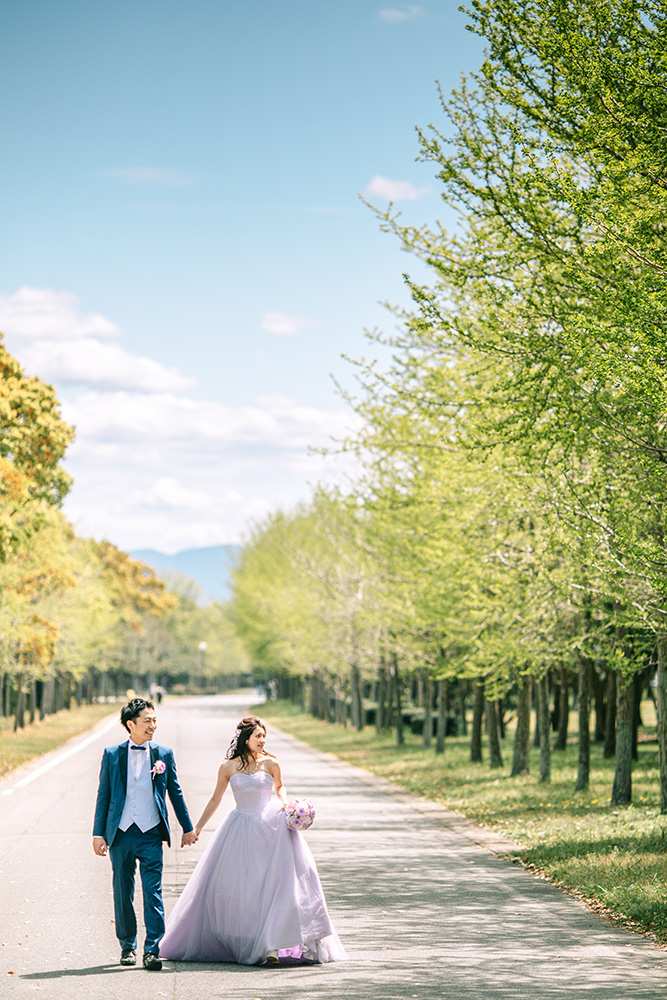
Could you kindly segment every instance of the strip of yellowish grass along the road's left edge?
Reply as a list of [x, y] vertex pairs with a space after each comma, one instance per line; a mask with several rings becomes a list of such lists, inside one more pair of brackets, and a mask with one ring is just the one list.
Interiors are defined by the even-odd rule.
[[62, 746], [74, 736], [87, 732], [101, 719], [116, 715], [120, 706], [82, 705], [70, 711], [49, 715], [43, 722], [13, 731], [13, 719], [0, 719], [0, 778], [7, 777], [22, 764]]

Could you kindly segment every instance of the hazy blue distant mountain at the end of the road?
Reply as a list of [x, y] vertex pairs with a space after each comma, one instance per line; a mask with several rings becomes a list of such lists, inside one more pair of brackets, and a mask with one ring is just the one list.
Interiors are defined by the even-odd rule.
[[155, 549], [135, 549], [130, 555], [146, 563], [163, 579], [178, 573], [193, 580], [201, 588], [202, 602], [210, 604], [231, 596], [232, 566], [240, 552], [240, 545], [209, 545], [203, 549], [184, 549], [173, 556]]

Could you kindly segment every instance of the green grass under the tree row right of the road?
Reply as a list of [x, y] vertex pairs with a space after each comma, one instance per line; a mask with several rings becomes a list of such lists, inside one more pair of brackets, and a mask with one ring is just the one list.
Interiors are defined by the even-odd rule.
[[[654, 723], [646, 709], [647, 721]], [[633, 804], [619, 808], [609, 804], [614, 761], [604, 760], [597, 744], [591, 747], [589, 788], [574, 791], [576, 733], [565, 751], [552, 755], [551, 781], [541, 784], [537, 751], [531, 751], [531, 774], [510, 777], [512, 732], [503, 745], [505, 766], [491, 770], [486, 763], [470, 763], [468, 737], [448, 738], [444, 755], [436, 756], [409, 731], [399, 748], [393, 734], [378, 736], [370, 727], [361, 733], [343, 729], [287, 702], [267, 702], [256, 710], [269, 727], [273, 723], [502, 832], [518, 845], [523, 864], [623, 926], [667, 943], [667, 817], [659, 814], [656, 743], [640, 743]], [[652, 726], [642, 733], [650, 738]]]

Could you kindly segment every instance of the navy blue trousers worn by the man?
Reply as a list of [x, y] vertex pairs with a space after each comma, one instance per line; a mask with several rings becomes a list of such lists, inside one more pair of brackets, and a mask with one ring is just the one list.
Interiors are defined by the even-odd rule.
[[144, 953], [157, 954], [164, 936], [162, 904], [162, 836], [158, 826], [142, 833], [133, 823], [118, 830], [109, 848], [113, 868], [113, 902], [116, 937], [121, 948], [137, 947], [137, 917], [134, 912], [134, 879], [137, 861], [144, 896], [146, 941]]

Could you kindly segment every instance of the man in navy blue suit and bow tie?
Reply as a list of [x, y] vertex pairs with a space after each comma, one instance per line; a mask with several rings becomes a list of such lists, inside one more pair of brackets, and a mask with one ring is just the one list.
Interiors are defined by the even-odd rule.
[[121, 965], [136, 965], [137, 918], [134, 913], [134, 875], [137, 861], [144, 896], [146, 941], [143, 965], [162, 968], [160, 941], [164, 935], [162, 905], [162, 841], [169, 845], [166, 795], [183, 828], [181, 847], [194, 844], [193, 830], [174, 755], [168, 747], [152, 743], [157, 728], [153, 703], [133, 698], [120, 713], [129, 741], [107, 747], [102, 757], [97, 790], [93, 850], [111, 855], [116, 935]]

